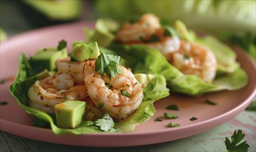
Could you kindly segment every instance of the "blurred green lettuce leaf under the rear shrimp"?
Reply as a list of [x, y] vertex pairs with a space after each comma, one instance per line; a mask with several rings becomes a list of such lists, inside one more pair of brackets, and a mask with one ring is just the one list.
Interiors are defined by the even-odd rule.
[[167, 86], [176, 93], [201, 95], [225, 89], [234, 90], [242, 88], [248, 83], [248, 76], [241, 68], [237, 68], [237, 70], [229, 73], [229, 75], [216, 77], [212, 84], [207, 84], [196, 75], [183, 75], [177, 68], [169, 64], [160, 51], [153, 48], [141, 45], [125, 46], [112, 44], [110, 49], [113, 53], [128, 60], [128, 67], [133, 70], [133, 73], [158, 73], [163, 75], [167, 79]]

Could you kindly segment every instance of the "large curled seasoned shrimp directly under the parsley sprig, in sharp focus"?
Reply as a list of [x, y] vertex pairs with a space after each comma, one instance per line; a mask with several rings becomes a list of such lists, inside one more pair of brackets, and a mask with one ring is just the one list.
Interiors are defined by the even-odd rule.
[[85, 86], [94, 105], [111, 117], [121, 120], [133, 113], [142, 103], [142, 89], [146, 84], [139, 84], [130, 70], [119, 66], [122, 73], [116, 77], [101, 76], [95, 71], [95, 60], [85, 65]]

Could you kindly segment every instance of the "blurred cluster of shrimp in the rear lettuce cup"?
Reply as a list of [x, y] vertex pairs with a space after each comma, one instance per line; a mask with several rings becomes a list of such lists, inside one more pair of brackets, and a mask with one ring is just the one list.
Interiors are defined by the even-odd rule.
[[197, 75], [204, 82], [212, 82], [216, 75], [216, 58], [209, 48], [180, 40], [167, 27], [161, 26], [153, 14], [143, 15], [135, 23], [124, 23], [117, 32], [117, 41], [122, 44], [143, 44], [160, 50], [180, 72]]

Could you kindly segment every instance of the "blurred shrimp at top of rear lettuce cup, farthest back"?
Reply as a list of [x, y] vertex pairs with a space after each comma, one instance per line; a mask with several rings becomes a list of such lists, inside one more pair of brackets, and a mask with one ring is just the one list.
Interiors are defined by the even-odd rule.
[[123, 44], [142, 43], [142, 39], [150, 39], [151, 35], [160, 28], [161, 25], [157, 17], [153, 14], [146, 14], [135, 23], [124, 23], [117, 32], [117, 41]]

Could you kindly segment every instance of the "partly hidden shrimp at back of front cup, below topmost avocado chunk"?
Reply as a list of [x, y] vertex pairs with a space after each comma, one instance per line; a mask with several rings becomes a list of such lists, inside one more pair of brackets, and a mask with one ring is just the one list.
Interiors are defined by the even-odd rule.
[[58, 72], [67, 73], [74, 77], [74, 82], [84, 82], [83, 66], [85, 61], [70, 61], [70, 58], [58, 59], [55, 62]]

